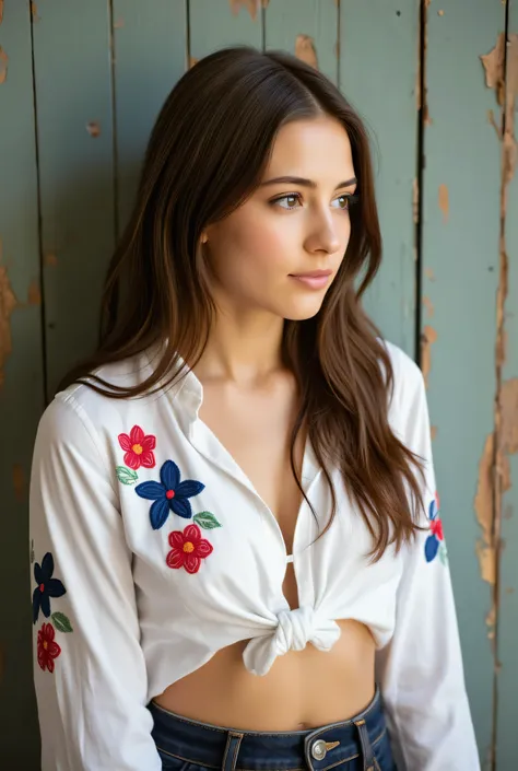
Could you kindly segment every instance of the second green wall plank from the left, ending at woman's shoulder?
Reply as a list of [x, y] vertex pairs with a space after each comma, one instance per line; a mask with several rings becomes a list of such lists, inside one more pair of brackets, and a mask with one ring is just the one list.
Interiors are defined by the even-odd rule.
[[39, 0], [34, 60], [48, 390], [94, 347], [114, 248], [107, 0]]

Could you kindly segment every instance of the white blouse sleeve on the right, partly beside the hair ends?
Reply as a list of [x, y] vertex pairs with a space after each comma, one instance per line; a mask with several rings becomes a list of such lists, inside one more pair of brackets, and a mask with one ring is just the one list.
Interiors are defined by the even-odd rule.
[[450, 573], [432, 460], [424, 382], [412, 363], [397, 407], [402, 440], [425, 462], [426, 517], [402, 551], [396, 629], [378, 653], [378, 681], [398, 771], [478, 771]]

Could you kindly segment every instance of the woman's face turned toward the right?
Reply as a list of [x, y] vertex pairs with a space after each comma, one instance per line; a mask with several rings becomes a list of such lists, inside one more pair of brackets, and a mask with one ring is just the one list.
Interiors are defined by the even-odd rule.
[[[337, 120], [284, 126], [259, 188], [204, 231], [217, 305], [247, 316], [315, 316], [345, 254], [355, 187], [351, 143]], [[327, 276], [307, 276], [316, 271]]]

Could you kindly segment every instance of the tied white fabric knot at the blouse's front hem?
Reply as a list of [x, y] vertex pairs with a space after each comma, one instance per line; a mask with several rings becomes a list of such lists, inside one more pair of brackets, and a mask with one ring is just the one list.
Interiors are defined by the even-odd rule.
[[268, 635], [250, 640], [243, 653], [245, 666], [252, 675], [266, 675], [278, 656], [302, 651], [310, 642], [319, 651], [330, 651], [341, 634], [332, 619], [325, 619], [308, 605], [281, 610], [279, 623]]

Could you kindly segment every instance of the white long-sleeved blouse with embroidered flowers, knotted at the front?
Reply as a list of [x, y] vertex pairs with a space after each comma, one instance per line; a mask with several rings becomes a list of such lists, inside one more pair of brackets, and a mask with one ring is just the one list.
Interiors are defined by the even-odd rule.
[[[198, 418], [186, 376], [133, 399], [84, 385], [58, 394], [36, 439], [31, 480], [34, 677], [42, 771], [160, 771], [146, 704], [249, 640], [266, 675], [311, 643], [329, 651], [337, 619], [368, 627], [399, 771], [476, 771], [421, 371], [387, 343], [392, 430], [426, 462], [426, 533], [374, 564], [368, 530], [332, 479], [338, 510], [320, 533], [303, 501], [293, 554], [250, 480]], [[116, 384], [151, 372], [150, 354], [103, 367]], [[320, 526], [331, 497], [308, 443], [303, 487]], [[299, 608], [282, 585], [293, 560]]]

